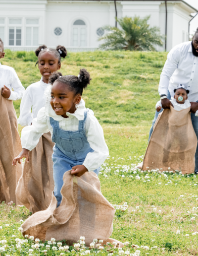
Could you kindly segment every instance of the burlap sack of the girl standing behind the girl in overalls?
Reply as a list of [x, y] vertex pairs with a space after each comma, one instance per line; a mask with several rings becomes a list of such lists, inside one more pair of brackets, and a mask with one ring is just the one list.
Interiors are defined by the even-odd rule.
[[17, 199], [32, 213], [46, 210], [51, 202], [54, 189], [53, 145], [50, 132], [44, 133], [37, 146], [29, 152], [29, 163], [25, 161], [16, 188]]

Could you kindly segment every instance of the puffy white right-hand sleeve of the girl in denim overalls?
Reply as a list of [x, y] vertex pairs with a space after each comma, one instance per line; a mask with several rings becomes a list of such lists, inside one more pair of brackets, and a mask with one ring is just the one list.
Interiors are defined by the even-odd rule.
[[85, 130], [87, 140], [94, 152], [87, 154], [83, 165], [88, 169], [89, 172], [91, 172], [99, 168], [109, 154], [108, 147], [104, 140], [103, 130], [92, 110], [89, 110], [87, 114]]

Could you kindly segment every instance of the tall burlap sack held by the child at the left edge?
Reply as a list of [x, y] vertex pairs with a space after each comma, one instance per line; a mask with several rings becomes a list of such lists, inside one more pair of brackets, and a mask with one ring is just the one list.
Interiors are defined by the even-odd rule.
[[16, 112], [12, 101], [2, 97], [0, 89], [0, 202], [13, 201], [17, 204], [16, 185], [22, 166], [12, 166], [12, 160], [21, 148]]

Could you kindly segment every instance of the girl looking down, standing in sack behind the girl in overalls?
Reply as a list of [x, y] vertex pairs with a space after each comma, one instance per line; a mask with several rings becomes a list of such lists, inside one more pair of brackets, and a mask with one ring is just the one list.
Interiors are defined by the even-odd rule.
[[[35, 54], [38, 57], [37, 64], [42, 77], [40, 81], [28, 86], [23, 95], [18, 119], [21, 126], [30, 126], [39, 110], [45, 106], [45, 90], [49, 76], [60, 69], [60, 59], [66, 57], [67, 51], [64, 46], [50, 49], [42, 45]], [[16, 189], [17, 198], [32, 213], [47, 209], [51, 200], [51, 192], [54, 188], [51, 159], [53, 145], [50, 132], [43, 134], [36, 148], [30, 153], [30, 163], [24, 164], [23, 174]], [[30, 184], [33, 185], [34, 190]]]

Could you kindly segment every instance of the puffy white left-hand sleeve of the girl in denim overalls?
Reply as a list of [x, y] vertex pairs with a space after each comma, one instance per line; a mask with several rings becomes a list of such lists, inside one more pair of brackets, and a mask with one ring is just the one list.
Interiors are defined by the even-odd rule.
[[22, 148], [32, 150], [36, 147], [40, 137], [49, 132], [47, 124], [47, 117], [45, 115], [45, 107], [40, 109], [37, 118], [33, 119], [32, 125], [24, 127], [21, 132], [21, 144]]

